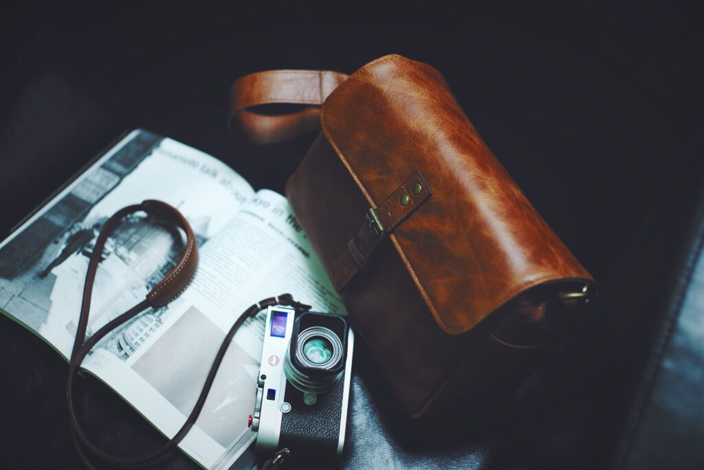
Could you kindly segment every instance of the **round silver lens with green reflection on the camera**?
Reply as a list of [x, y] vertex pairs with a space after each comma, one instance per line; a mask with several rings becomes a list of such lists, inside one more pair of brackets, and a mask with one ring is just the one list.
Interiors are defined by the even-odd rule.
[[[325, 346], [329, 346], [331, 351], [329, 357], [325, 361], [311, 361], [306, 354], [306, 345], [314, 340], [322, 340]], [[343, 356], [342, 342], [340, 338], [327, 328], [322, 326], [311, 326], [306, 328], [296, 339], [296, 360], [302, 366], [320, 371], [315, 377], [309, 376], [306, 373], [298, 370], [294, 361], [291, 360], [291, 350], [287, 350], [286, 359], [284, 359], [284, 373], [291, 385], [301, 390], [301, 392], [318, 394], [329, 390], [332, 385], [335, 385], [340, 380], [344, 370], [339, 373], [325, 373], [329, 369], [333, 369], [339, 363]]]

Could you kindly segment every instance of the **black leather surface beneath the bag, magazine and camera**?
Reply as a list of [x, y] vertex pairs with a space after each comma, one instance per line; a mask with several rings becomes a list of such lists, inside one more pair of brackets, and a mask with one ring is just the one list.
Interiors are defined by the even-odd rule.
[[[682, 369], [685, 359], [696, 361], [696, 342], [668, 335], [665, 366], [657, 367], [650, 391], [637, 391], [660, 321], [679, 298], [663, 286], [689, 286], [674, 248], [682, 247], [701, 184], [687, 171], [695, 154], [684, 152], [703, 104], [704, 32], [693, 3], [483, 2], [460, 9], [410, 1], [354, 4], [341, 13], [310, 2], [6, 3], [0, 13], [0, 233], [116, 135], [139, 126], [218, 156], [255, 187], [280, 191], [310, 138], [274, 147], [232, 139], [225, 119], [234, 78], [266, 68], [351, 72], [391, 52], [427, 61], [443, 71], [489, 147], [601, 281], [603, 309], [524, 385], [516, 414], [497, 416], [491, 428], [467, 426], [435, 440], [415, 437], [368, 353], [357, 347], [341, 465], [686, 464], [675, 457], [696, 463], [694, 441], [678, 434], [697, 430], [696, 412], [688, 415], [683, 405], [704, 395], [696, 389], [696, 370]], [[666, 181], [678, 190], [667, 192]], [[694, 294], [688, 298], [694, 302]], [[696, 311], [682, 305], [677, 311]], [[672, 320], [680, 328], [678, 322]], [[66, 364], [1, 318], [0, 371], [0, 466], [80, 468], [65, 418]], [[670, 388], [673, 381], [679, 386]], [[84, 393], [80, 411], [99, 445], [132, 454], [161, 442], [111, 390], [89, 379]], [[635, 396], [657, 406], [627, 421], [635, 431], [629, 452], [615, 464]], [[196, 466], [176, 455], [154, 468]]]

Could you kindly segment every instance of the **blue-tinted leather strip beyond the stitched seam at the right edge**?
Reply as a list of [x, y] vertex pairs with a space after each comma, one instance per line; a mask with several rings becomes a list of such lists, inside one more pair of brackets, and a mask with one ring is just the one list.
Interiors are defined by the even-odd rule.
[[[679, 230], [662, 316], [654, 318], [647, 359], [614, 455], [617, 469], [700, 469], [704, 464], [704, 125], [688, 151], [691, 202]], [[680, 193], [683, 188], [680, 188]]]

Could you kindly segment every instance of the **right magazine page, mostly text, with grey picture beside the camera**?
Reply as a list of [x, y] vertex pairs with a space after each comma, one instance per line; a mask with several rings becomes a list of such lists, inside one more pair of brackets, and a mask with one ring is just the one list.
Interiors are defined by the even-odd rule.
[[[287, 200], [259, 191], [200, 252], [199, 271], [163, 326], [142, 338], [149, 314], [99, 344], [84, 368], [113, 387], [166, 435], [182, 426], [222, 338], [265, 297], [291, 293], [318, 311], [344, 314]], [[222, 361], [196, 426], [180, 444], [206, 468], [229, 469], [253, 442], [253, 412], [265, 312], [247, 321]], [[135, 340], [134, 338], [140, 338]], [[136, 342], [127, 357], [112, 345]]]

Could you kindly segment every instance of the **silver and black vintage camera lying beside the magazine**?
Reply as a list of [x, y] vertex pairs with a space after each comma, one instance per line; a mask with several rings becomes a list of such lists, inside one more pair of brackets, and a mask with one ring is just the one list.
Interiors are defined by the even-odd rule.
[[296, 461], [342, 453], [354, 335], [344, 317], [269, 307], [252, 431], [256, 452], [287, 447]]

